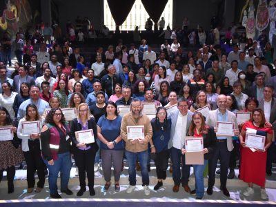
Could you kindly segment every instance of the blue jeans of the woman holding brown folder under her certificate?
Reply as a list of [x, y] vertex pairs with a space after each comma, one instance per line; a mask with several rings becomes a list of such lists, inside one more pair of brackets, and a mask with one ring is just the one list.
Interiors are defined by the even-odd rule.
[[204, 159], [203, 165], [193, 165], [194, 173], [195, 173], [195, 193], [197, 193], [197, 197], [199, 198], [204, 196], [203, 173], [207, 164], [208, 164], [208, 159]]

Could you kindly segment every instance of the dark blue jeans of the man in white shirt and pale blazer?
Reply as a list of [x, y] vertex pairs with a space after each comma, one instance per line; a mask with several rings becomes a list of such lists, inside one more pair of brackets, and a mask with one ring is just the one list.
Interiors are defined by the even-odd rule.
[[[185, 155], [181, 154], [181, 150], [172, 147], [171, 157], [172, 157], [172, 179], [175, 182], [175, 185], [179, 186], [180, 182], [182, 186], [188, 185], [188, 180], [190, 177], [190, 165], [185, 164]], [[181, 161], [182, 161], [182, 166], [181, 166], [182, 176], [180, 172]]]

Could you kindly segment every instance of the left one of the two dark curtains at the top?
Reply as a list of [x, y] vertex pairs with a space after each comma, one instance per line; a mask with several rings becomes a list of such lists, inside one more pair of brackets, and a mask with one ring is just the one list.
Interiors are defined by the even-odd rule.
[[108, 0], [110, 12], [116, 23], [116, 30], [119, 30], [119, 26], [124, 23], [134, 3], [135, 0]]

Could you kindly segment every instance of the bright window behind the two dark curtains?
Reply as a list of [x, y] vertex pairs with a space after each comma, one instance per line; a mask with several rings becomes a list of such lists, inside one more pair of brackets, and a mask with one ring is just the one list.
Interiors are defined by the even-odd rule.
[[[116, 23], [112, 18], [107, 0], [104, 0], [103, 6], [104, 24], [109, 28], [109, 30], [116, 30]], [[120, 26], [120, 30], [134, 30], [136, 26], [139, 27], [139, 30], [145, 30], [145, 23], [148, 17], [148, 12], [146, 12], [141, 0], [136, 0], [126, 18], [126, 21], [124, 21], [122, 26]], [[172, 28], [172, 0], [168, 0], [161, 17], [164, 17], [165, 28], [166, 26]]]

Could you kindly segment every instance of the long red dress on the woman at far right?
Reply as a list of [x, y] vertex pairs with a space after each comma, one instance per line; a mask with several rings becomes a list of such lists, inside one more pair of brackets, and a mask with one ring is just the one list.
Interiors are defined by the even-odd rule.
[[[246, 121], [242, 130], [253, 128], [273, 134], [272, 128], [259, 128], [252, 122]], [[243, 137], [245, 139], [245, 136]], [[241, 166], [239, 167], [239, 179], [246, 183], [253, 183], [264, 187], [266, 182], [266, 157], [267, 152], [252, 152], [250, 148], [241, 147]]]

